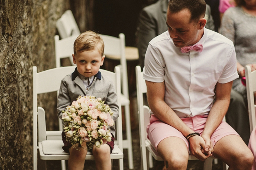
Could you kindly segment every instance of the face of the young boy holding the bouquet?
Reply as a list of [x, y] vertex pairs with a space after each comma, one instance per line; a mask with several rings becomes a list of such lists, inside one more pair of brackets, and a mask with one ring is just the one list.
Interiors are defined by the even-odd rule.
[[97, 49], [82, 51], [77, 52], [76, 56], [73, 54], [73, 63], [76, 64], [78, 73], [85, 77], [91, 77], [98, 73], [104, 58], [105, 55], [101, 56]]

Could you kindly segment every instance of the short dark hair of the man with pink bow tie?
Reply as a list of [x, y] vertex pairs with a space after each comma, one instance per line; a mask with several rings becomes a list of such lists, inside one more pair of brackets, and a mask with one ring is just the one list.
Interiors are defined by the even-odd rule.
[[204, 17], [206, 11], [204, 0], [170, 0], [168, 7], [172, 13], [188, 9], [191, 13], [191, 21], [199, 21], [201, 16]]

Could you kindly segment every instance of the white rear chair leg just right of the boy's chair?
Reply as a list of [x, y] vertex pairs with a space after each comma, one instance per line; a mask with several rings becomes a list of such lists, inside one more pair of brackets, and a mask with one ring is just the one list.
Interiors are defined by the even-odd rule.
[[128, 149], [128, 163], [129, 169], [133, 169], [133, 145], [132, 145], [132, 133], [130, 127], [130, 106], [124, 106], [125, 109], [125, 119], [126, 119], [126, 141], [124, 140], [124, 149]]

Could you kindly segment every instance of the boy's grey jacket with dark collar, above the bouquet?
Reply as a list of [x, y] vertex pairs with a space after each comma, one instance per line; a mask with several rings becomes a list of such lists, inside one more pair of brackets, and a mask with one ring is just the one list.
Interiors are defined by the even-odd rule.
[[[100, 71], [95, 75], [92, 85], [86, 91], [83, 80], [78, 76], [77, 68], [72, 74], [65, 76], [62, 79], [59, 95], [58, 95], [58, 117], [62, 119], [62, 110], [66, 110], [66, 106], [71, 105], [76, 101], [77, 97], [81, 96], [95, 96], [100, 97], [114, 112], [113, 119], [116, 122], [119, 117], [119, 106], [117, 105], [117, 94], [114, 84], [107, 76], [101, 75]], [[110, 132], [115, 136], [115, 128], [111, 126]]]

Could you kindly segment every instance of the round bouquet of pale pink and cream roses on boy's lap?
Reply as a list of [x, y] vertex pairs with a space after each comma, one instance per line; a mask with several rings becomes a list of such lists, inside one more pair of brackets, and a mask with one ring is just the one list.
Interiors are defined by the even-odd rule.
[[71, 106], [62, 110], [66, 138], [72, 145], [79, 147], [101, 145], [111, 141], [109, 126], [114, 126], [113, 112], [101, 98], [78, 96]]

